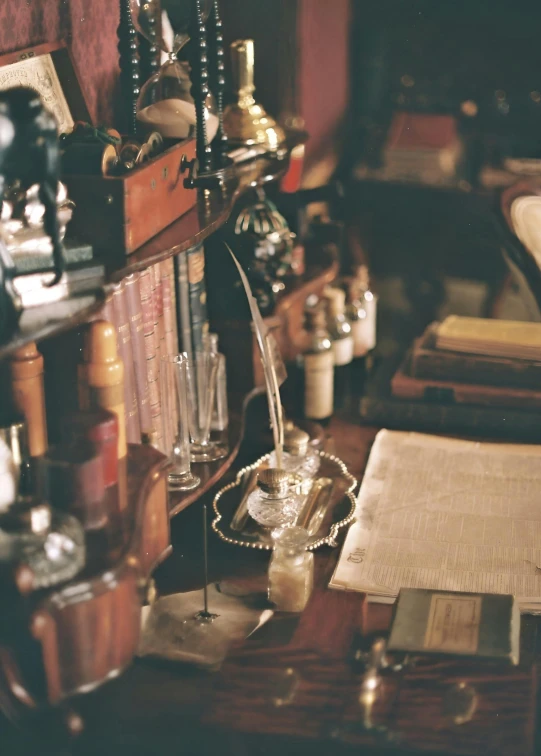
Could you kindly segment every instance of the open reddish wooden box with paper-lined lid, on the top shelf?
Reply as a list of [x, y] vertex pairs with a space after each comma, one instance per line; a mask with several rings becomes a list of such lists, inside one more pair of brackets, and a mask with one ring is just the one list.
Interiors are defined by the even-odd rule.
[[[0, 57], [0, 90], [13, 86], [36, 89], [56, 116], [59, 132], [71, 130], [75, 120], [91, 120], [62, 43]], [[134, 252], [195, 205], [196, 190], [184, 187], [186, 163], [194, 157], [195, 139], [187, 139], [123, 176], [63, 176], [76, 204], [70, 235], [115, 257]]]

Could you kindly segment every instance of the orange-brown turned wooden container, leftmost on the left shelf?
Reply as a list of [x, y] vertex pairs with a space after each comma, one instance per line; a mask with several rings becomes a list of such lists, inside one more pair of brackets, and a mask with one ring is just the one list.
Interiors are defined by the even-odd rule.
[[13, 404], [26, 422], [30, 456], [42, 457], [47, 451], [43, 357], [34, 342], [14, 353], [10, 373]]

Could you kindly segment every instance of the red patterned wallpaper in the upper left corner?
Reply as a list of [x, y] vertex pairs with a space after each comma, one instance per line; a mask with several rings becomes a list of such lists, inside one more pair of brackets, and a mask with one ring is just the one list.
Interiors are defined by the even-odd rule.
[[118, 8], [116, 0], [0, 0], [0, 54], [66, 40], [92, 117], [114, 123]]

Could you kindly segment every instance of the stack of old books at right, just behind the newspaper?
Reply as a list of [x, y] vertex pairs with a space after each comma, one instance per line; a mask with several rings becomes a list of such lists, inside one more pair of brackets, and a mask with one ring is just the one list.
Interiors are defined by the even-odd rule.
[[541, 440], [541, 323], [433, 323], [361, 415], [392, 428]]

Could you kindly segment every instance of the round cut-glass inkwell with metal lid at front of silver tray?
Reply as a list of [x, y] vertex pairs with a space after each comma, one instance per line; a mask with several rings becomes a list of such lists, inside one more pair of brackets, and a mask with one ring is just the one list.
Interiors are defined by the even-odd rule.
[[248, 514], [265, 528], [293, 525], [305, 497], [291, 491], [291, 476], [277, 467], [262, 470], [248, 497]]

